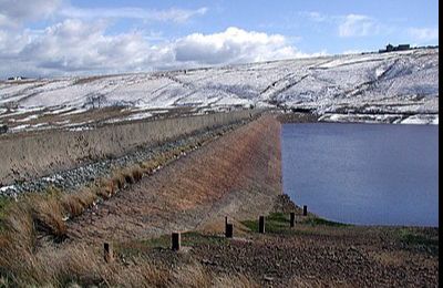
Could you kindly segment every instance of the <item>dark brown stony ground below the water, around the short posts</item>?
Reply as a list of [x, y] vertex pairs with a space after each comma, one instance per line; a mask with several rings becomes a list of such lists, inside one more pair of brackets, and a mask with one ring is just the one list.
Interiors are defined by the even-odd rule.
[[[302, 216], [287, 195], [277, 203], [266, 234], [258, 234], [257, 220], [244, 220], [235, 223], [233, 239], [220, 227], [202, 229], [182, 236], [181, 253], [164, 236], [119, 244], [117, 255], [127, 261], [138, 253], [168, 267], [197, 261], [216, 275], [246, 275], [259, 287], [439, 286], [437, 228], [350, 226]], [[295, 228], [288, 210], [296, 210]]]

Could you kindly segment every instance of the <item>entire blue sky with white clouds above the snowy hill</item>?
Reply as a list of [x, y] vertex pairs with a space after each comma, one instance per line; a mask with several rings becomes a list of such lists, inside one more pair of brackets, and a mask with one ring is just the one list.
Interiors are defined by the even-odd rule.
[[0, 0], [0, 78], [434, 45], [437, 11], [437, 0]]

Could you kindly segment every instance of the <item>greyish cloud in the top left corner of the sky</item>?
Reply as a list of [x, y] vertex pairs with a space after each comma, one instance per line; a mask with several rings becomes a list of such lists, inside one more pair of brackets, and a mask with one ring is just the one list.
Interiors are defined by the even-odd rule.
[[61, 0], [0, 0], [0, 27], [14, 28], [25, 21], [51, 16]]

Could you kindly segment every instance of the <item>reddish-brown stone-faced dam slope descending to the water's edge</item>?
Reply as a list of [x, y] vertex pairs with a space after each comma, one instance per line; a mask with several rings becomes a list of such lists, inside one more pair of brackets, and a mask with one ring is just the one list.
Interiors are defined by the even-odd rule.
[[128, 240], [256, 217], [281, 194], [280, 123], [262, 116], [69, 223], [71, 238]]

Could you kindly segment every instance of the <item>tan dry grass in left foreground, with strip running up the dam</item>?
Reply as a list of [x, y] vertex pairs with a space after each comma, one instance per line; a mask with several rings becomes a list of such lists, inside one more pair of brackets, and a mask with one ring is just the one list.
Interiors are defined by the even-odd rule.
[[[40, 245], [40, 236], [63, 240], [66, 235], [65, 218], [81, 215], [99, 198], [107, 199], [126, 184], [142, 179], [184, 152], [200, 146], [196, 144], [176, 147], [161, 153], [154, 160], [115, 171], [110, 178], [96, 182], [78, 193], [49, 193], [21, 198], [13, 204], [0, 230], [0, 285], [11, 287], [81, 286], [117, 287], [256, 287], [245, 276], [215, 276], [199, 264], [192, 263], [171, 268], [154, 266], [150, 259], [135, 258], [130, 263], [120, 259], [105, 264], [102, 250], [82, 245], [62, 243], [59, 246]], [[48, 237], [43, 237], [47, 241]], [[49, 244], [49, 245], [48, 245]], [[58, 247], [58, 248], [56, 248]]]

